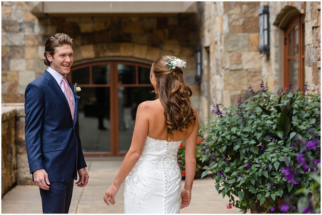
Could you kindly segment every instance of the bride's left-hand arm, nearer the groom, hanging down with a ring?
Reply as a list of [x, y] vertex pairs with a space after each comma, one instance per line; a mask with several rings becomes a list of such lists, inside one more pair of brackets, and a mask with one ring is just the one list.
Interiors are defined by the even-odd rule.
[[109, 202], [115, 204], [115, 195], [118, 192], [118, 189], [141, 157], [144, 143], [147, 139], [148, 128], [148, 105], [146, 102], [143, 102], [137, 107], [131, 146], [124, 157], [122, 166], [112, 185], [105, 192], [104, 201], [106, 204], [109, 205]]

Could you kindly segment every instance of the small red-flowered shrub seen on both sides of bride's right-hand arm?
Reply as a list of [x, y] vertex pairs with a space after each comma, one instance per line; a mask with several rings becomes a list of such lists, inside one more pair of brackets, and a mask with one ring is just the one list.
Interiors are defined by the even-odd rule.
[[[202, 157], [204, 156], [204, 151], [201, 151], [202, 146], [200, 143], [202, 142], [204, 142], [204, 140], [198, 140], [196, 145], [196, 172], [199, 172], [201, 170], [200, 164]], [[180, 144], [177, 157], [181, 175], [185, 176], [185, 141], [182, 141], [182, 143]]]

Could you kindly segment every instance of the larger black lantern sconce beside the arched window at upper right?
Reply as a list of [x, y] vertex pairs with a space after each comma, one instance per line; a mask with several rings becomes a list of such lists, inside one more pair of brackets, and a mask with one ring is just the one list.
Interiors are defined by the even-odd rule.
[[260, 6], [258, 9], [259, 22], [259, 47], [260, 54], [270, 53], [270, 13], [268, 5]]

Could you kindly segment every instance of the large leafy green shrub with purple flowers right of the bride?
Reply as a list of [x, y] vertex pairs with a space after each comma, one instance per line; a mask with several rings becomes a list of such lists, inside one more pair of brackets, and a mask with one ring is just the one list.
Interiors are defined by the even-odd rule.
[[296, 212], [303, 196], [297, 190], [315, 183], [310, 175], [320, 162], [320, 94], [308, 94], [307, 86], [277, 93], [260, 86], [258, 94], [250, 86], [251, 98], [224, 112], [214, 105], [217, 117], [200, 130], [202, 176], [213, 171], [216, 190], [242, 212], [256, 203], [267, 213]]

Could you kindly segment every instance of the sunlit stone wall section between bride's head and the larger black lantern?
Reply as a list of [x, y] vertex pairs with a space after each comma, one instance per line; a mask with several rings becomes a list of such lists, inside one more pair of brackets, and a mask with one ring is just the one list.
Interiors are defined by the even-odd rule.
[[201, 85], [202, 118], [209, 116], [212, 102], [228, 107], [237, 103], [239, 97], [249, 97], [249, 85], [259, 89], [262, 77], [257, 49], [258, 7], [258, 2], [199, 3], [201, 43], [206, 47]]

